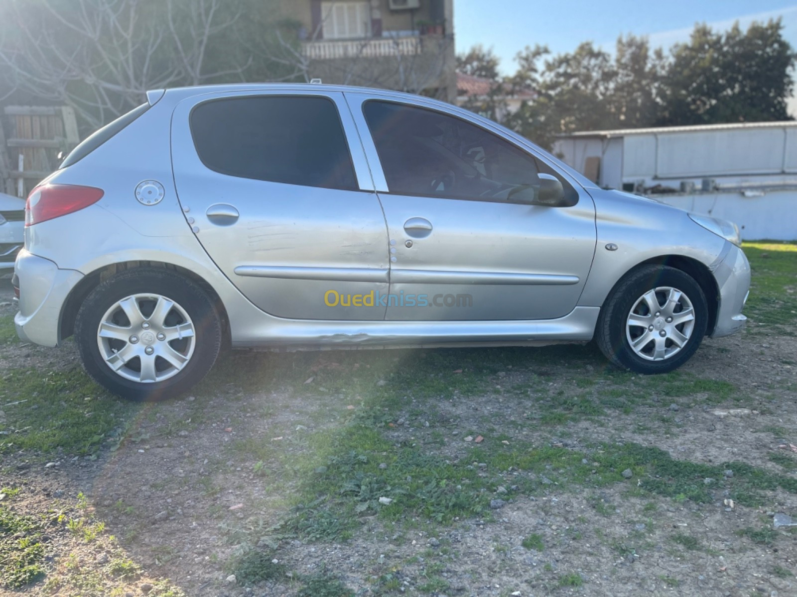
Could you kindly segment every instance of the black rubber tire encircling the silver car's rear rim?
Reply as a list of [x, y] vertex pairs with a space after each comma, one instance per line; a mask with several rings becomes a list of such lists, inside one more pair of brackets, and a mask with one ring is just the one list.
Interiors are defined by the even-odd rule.
[[[147, 293], [170, 298], [188, 314], [194, 324], [194, 349], [173, 377], [141, 382], [114, 372], [100, 353], [97, 338], [101, 319], [115, 302]], [[142, 267], [113, 275], [88, 295], [77, 313], [75, 337], [86, 372], [99, 384], [127, 400], [159, 401], [186, 392], [206, 376], [222, 346], [222, 324], [202, 288], [174, 271]]]

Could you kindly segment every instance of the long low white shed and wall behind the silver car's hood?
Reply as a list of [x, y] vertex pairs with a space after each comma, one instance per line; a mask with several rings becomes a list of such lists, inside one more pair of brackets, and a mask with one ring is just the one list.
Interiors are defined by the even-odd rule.
[[797, 240], [797, 122], [580, 131], [554, 153], [599, 185]]

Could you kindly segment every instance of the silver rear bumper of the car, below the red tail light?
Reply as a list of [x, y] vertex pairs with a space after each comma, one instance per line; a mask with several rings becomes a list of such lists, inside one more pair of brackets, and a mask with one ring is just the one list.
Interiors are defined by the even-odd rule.
[[19, 312], [14, 317], [17, 335], [23, 341], [57, 346], [64, 303], [83, 274], [58, 269], [56, 263], [25, 249], [17, 256], [14, 271], [19, 283]]

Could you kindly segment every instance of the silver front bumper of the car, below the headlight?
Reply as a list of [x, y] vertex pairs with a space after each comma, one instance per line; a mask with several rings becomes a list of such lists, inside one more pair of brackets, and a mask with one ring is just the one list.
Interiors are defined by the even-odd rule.
[[730, 250], [713, 267], [714, 279], [720, 289], [717, 309], [717, 325], [711, 338], [728, 336], [741, 329], [747, 318], [742, 314], [744, 303], [750, 294], [750, 263], [744, 252], [728, 243]]

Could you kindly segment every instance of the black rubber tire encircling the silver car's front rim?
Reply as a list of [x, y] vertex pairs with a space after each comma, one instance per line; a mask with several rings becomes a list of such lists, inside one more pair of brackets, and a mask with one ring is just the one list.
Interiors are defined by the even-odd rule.
[[[659, 361], [650, 361], [639, 356], [631, 347], [626, 334], [626, 324], [631, 309], [642, 295], [659, 287], [675, 288], [689, 299], [694, 314], [693, 329], [689, 340], [672, 356]], [[668, 373], [689, 361], [700, 346], [708, 326], [708, 314], [705, 294], [692, 276], [674, 267], [647, 265], [631, 271], [609, 293], [598, 318], [595, 340], [609, 361], [622, 369], [630, 369], [645, 375]], [[683, 326], [680, 327], [683, 330]], [[632, 329], [639, 330], [639, 328]], [[641, 332], [638, 333], [641, 335]], [[672, 347], [672, 341], [669, 342]]]

